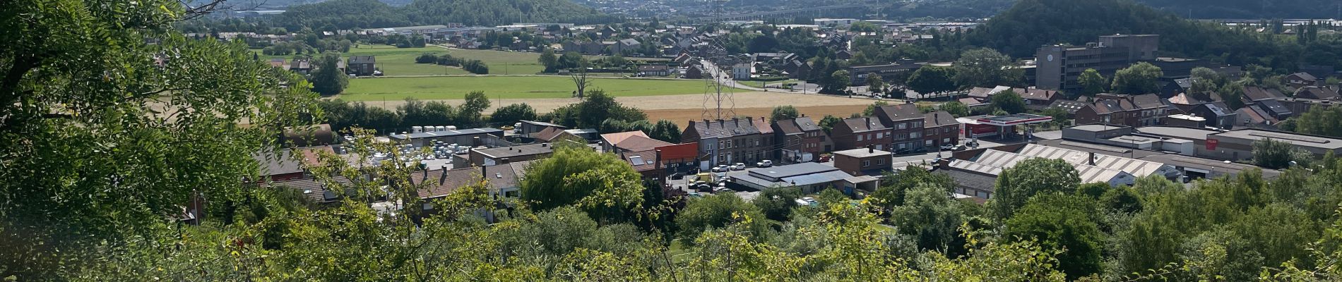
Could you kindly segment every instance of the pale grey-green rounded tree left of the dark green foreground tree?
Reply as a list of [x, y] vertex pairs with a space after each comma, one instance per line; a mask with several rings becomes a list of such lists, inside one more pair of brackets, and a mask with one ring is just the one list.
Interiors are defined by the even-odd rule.
[[956, 246], [957, 229], [964, 214], [945, 187], [921, 183], [909, 190], [903, 206], [890, 213], [900, 234], [911, 235], [921, 250], [961, 249]]

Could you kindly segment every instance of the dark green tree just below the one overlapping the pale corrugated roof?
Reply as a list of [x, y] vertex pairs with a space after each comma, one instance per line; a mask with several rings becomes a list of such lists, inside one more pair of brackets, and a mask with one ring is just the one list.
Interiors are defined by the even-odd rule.
[[1040, 194], [1007, 221], [1004, 235], [1008, 241], [1035, 239], [1047, 249], [1066, 250], [1057, 257], [1057, 269], [1068, 279], [1078, 279], [1100, 271], [1103, 234], [1096, 218], [1090, 199]]

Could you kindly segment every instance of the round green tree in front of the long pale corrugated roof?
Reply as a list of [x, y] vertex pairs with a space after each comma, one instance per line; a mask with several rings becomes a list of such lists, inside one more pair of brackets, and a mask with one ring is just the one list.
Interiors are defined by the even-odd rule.
[[1031, 196], [1044, 192], [1068, 192], [1080, 184], [1080, 176], [1071, 163], [1062, 159], [1033, 158], [1002, 170], [997, 175], [993, 207], [997, 218], [1005, 221], [1025, 206]]

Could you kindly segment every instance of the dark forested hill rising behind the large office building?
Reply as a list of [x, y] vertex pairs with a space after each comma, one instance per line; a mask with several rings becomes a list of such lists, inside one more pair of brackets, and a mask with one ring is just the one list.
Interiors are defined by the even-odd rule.
[[1130, 0], [1020, 0], [969, 32], [961, 44], [1033, 56], [1045, 44], [1084, 44], [1100, 35], [1161, 35], [1162, 55], [1216, 59], [1229, 64], [1292, 68], [1300, 44], [1288, 36], [1198, 23]]

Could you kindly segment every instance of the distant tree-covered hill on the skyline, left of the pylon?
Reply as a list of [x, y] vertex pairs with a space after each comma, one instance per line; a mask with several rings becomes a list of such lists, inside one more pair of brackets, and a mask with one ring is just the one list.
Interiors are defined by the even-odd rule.
[[276, 17], [290, 31], [386, 28], [462, 23], [501, 25], [511, 23], [607, 23], [613, 17], [569, 0], [415, 0], [392, 7], [377, 0], [330, 0], [293, 5]]

